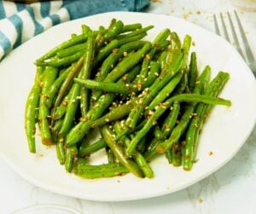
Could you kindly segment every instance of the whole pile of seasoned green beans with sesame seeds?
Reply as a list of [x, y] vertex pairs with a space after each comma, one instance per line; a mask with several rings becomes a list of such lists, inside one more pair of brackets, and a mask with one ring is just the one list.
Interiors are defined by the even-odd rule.
[[[162, 153], [167, 163], [192, 169], [212, 107], [231, 105], [218, 97], [230, 76], [218, 72], [211, 80], [209, 66], [198, 72], [189, 35], [182, 42], [163, 29], [150, 42], [151, 28], [115, 19], [96, 30], [83, 25], [35, 61], [25, 113], [31, 153], [38, 133], [55, 145], [66, 171], [84, 178], [152, 178], [150, 162]], [[91, 142], [94, 129], [102, 137]], [[90, 165], [102, 149], [108, 163]]]

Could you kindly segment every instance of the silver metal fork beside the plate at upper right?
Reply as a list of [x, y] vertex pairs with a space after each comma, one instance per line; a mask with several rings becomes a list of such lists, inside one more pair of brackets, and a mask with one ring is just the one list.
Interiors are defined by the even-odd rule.
[[[232, 32], [232, 37], [234, 38], [234, 41], [235, 41], [235, 47], [236, 47], [237, 51], [239, 52], [239, 54], [241, 55], [241, 57], [247, 62], [247, 65], [248, 65], [248, 67], [251, 68], [251, 70], [253, 71], [253, 74], [256, 76], [256, 61], [255, 61], [255, 58], [253, 56], [252, 49], [249, 46], [246, 34], [243, 30], [243, 27], [241, 26], [241, 20], [239, 19], [238, 14], [236, 13], [236, 10], [235, 10], [234, 14], [236, 16], [237, 26], [238, 26], [239, 32], [241, 34], [241, 41], [244, 45], [245, 54], [242, 53], [241, 46], [240, 46], [239, 40], [237, 38], [235, 26], [234, 26], [233, 21], [231, 19], [230, 13], [227, 12], [227, 14], [228, 14], [228, 18], [229, 18], [229, 21], [230, 21], [230, 28], [231, 28], [231, 32]], [[230, 43], [230, 36], [229, 36], [228, 30], [227, 30], [227, 27], [225, 25], [225, 22], [224, 22], [223, 14], [220, 13], [219, 15], [220, 15], [221, 24], [222, 24], [222, 27], [223, 27], [224, 38]], [[219, 28], [218, 28], [218, 21], [217, 21], [216, 14], [213, 15], [213, 18], [214, 18], [215, 32], [219, 36], [221, 36]]]

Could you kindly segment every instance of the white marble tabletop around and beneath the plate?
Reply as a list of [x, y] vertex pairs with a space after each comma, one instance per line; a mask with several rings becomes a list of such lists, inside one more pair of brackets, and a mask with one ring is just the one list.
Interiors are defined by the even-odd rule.
[[[212, 14], [235, 9], [225, 0], [154, 0], [148, 13], [172, 14], [214, 31]], [[256, 56], [256, 13], [239, 11]], [[255, 97], [254, 97], [255, 99]], [[256, 213], [256, 128], [241, 150], [220, 170], [175, 194], [119, 203], [94, 202], [53, 194], [23, 180], [0, 159], [0, 213], [31, 205], [61, 205], [96, 213]], [[15, 212], [18, 213], [18, 212]], [[20, 212], [21, 213], [21, 212]], [[22, 213], [73, 213], [72, 211]]]

